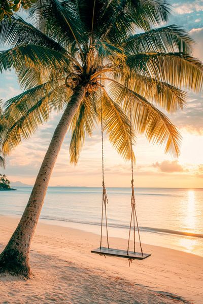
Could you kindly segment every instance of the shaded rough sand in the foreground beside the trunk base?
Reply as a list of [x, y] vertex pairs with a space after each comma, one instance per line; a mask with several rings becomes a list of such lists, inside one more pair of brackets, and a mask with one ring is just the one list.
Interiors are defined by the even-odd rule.
[[175, 294], [153, 291], [54, 256], [32, 252], [30, 263], [30, 280], [0, 278], [2, 303], [189, 303]]

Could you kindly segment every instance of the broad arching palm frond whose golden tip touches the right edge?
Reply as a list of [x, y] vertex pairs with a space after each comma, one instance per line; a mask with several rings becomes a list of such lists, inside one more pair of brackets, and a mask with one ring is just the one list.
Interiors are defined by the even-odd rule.
[[[185, 53], [143, 53], [127, 56], [129, 71], [199, 92], [203, 82], [203, 64]], [[120, 68], [122, 72], [122, 67]]]

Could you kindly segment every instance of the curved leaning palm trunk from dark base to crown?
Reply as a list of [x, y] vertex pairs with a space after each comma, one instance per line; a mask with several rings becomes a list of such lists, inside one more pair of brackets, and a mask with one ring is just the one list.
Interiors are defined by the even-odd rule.
[[9, 243], [0, 255], [0, 273], [10, 273], [12, 275], [23, 276], [24, 278], [29, 278], [31, 275], [29, 267], [30, 243], [35, 234], [51, 173], [61, 144], [73, 116], [84, 98], [84, 94], [84, 87], [78, 86], [75, 89], [55, 129], [25, 211]]

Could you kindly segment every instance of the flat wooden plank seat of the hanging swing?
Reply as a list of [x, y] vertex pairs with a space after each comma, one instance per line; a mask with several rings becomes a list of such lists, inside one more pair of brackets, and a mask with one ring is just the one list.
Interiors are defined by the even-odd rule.
[[140, 259], [140, 260], [143, 260], [151, 255], [149, 253], [142, 254], [141, 252], [133, 252], [133, 251], [128, 251], [127, 254], [126, 250], [106, 248], [106, 247], [101, 247], [101, 248], [99, 247], [97, 249], [91, 250], [91, 252], [100, 255], [112, 255], [112, 256], [124, 257], [128, 259]]

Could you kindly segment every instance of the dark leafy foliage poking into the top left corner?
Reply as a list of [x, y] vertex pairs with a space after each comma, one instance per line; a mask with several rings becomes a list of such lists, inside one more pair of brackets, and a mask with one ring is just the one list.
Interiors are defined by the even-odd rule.
[[8, 18], [11, 21], [11, 16], [20, 8], [27, 10], [36, 2], [37, 0], [0, 0], [0, 21], [3, 18]]

